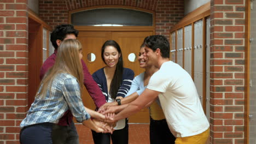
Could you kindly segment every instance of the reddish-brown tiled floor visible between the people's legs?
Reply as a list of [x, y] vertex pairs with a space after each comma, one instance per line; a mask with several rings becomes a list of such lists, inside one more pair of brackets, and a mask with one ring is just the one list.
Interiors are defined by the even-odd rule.
[[[75, 124], [80, 144], [94, 144], [91, 130], [82, 124]], [[129, 144], [149, 143], [149, 124], [129, 124]]]

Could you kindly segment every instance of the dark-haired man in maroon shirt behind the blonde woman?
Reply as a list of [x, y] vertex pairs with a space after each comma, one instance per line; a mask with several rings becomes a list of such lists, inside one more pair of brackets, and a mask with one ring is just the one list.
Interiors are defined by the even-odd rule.
[[[74, 29], [72, 25], [59, 25], [56, 26], [51, 33], [51, 43], [53, 44], [55, 51], [53, 55], [49, 56], [40, 69], [40, 79], [42, 80], [45, 73], [49, 68], [53, 67], [55, 63], [57, 48], [61, 44], [61, 41], [65, 39], [77, 39], [78, 31]], [[82, 59], [83, 71], [84, 71], [84, 86], [86, 87], [97, 109], [106, 103], [106, 98], [98, 87], [97, 83], [92, 79], [88, 68], [86, 67]], [[53, 143], [72, 143], [79, 144], [77, 130], [75, 129], [74, 122], [72, 120], [73, 115], [70, 110], [66, 111], [59, 123], [54, 125], [52, 139]], [[65, 139], [66, 137], [66, 139]]]

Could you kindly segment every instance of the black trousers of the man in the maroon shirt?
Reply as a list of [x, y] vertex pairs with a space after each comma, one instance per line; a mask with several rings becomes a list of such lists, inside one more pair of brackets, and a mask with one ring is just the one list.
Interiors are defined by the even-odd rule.
[[77, 129], [74, 122], [71, 125], [53, 125], [53, 144], [79, 144]]

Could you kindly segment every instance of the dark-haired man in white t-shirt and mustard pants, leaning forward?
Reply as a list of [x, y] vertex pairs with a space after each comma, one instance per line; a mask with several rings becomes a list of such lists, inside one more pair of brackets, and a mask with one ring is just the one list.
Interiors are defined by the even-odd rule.
[[159, 96], [168, 127], [177, 137], [175, 143], [205, 143], [210, 125], [190, 75], [170, 61], [170, 44], [163, 35], [151, 35], [144, 44], [148, 64], [159, 70], [150, 78], [146, 90], [110, 121], [131, 116]]

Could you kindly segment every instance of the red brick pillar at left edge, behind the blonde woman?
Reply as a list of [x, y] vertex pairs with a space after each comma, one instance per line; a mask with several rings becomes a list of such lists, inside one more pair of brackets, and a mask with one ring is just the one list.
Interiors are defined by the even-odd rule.
[[27, 111], [27, 0], [0, 1], [0, 144], [19, 143]]

